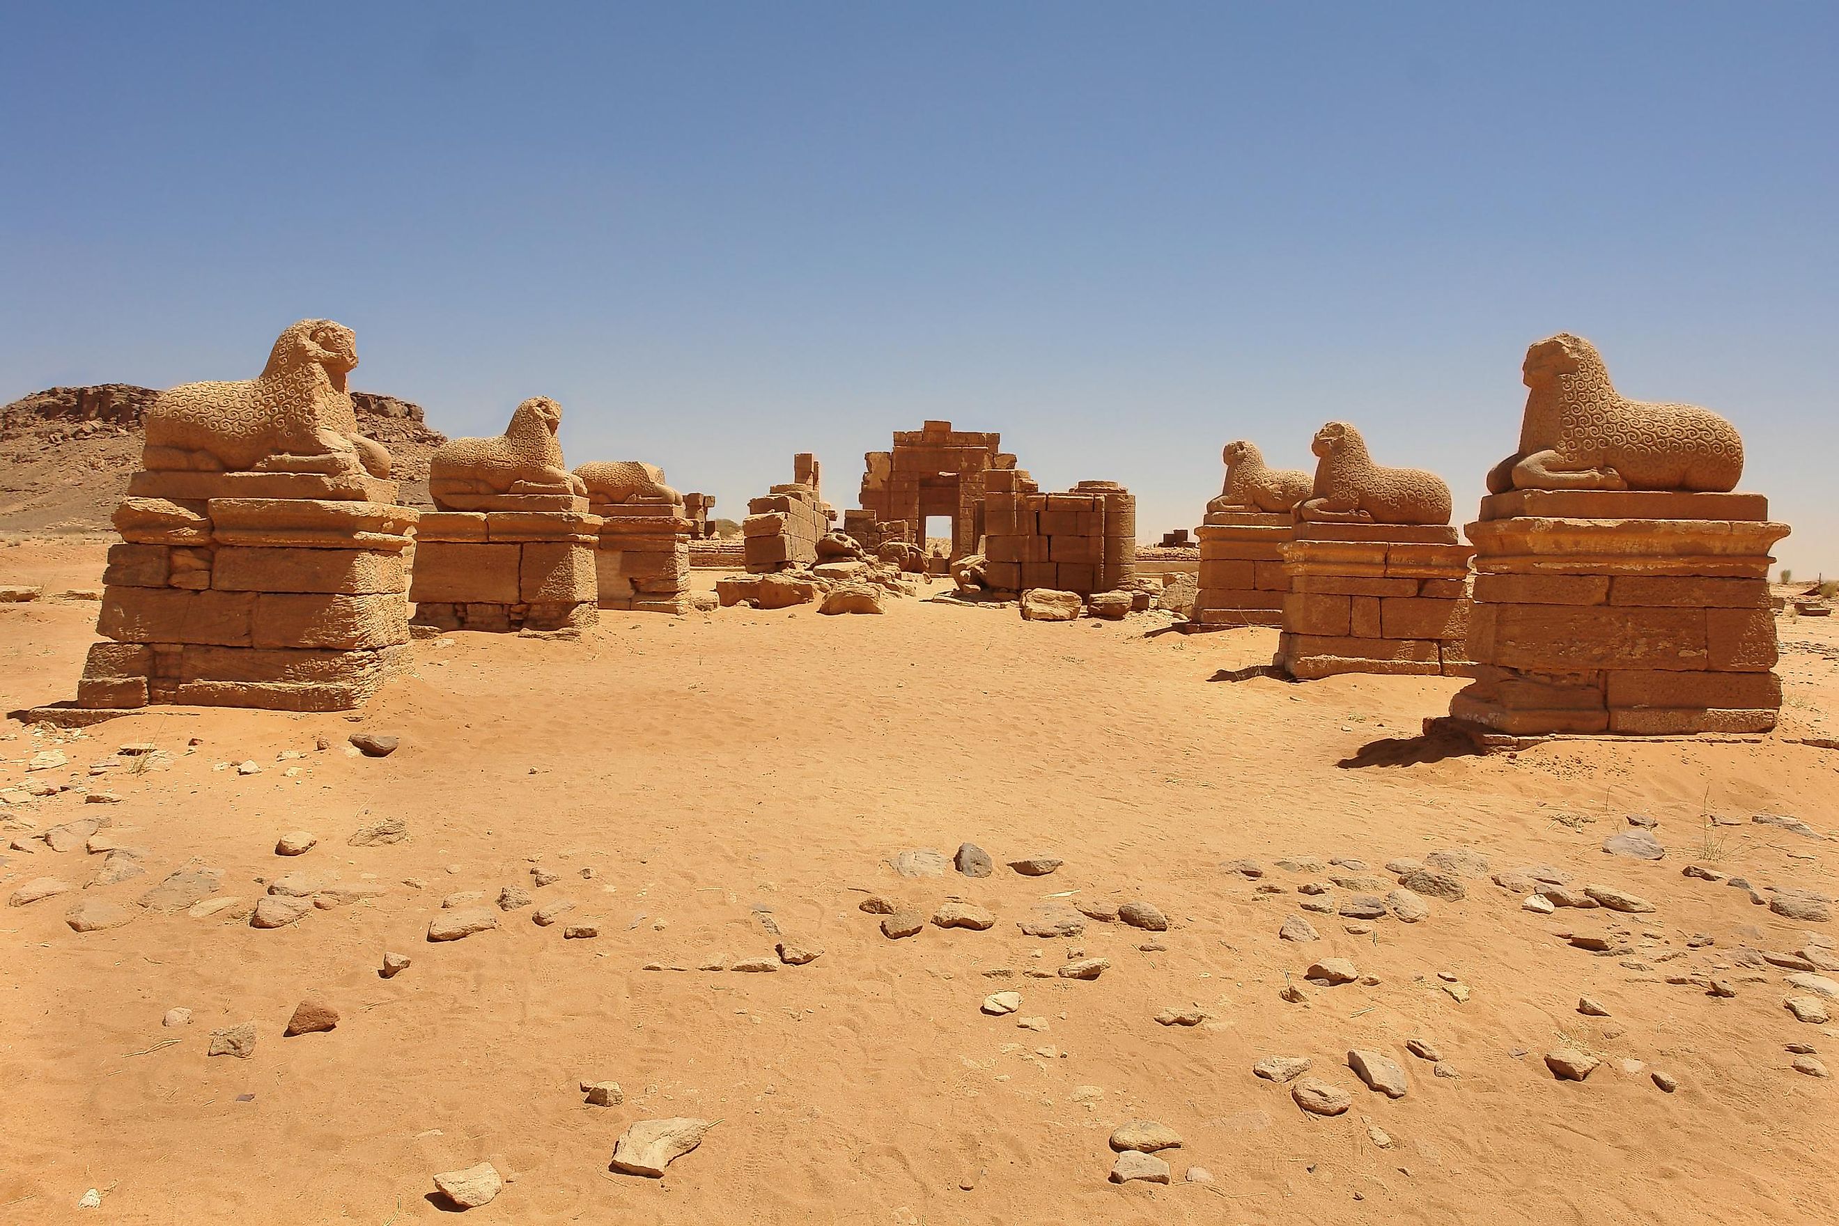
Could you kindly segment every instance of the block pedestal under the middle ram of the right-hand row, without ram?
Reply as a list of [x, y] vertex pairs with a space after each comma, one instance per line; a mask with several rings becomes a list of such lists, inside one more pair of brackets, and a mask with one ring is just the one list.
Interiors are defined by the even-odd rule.
[[1296, 524], [1276, 667], [1302, 680], [1468, 673], [1473, 551], [1447, 526]]

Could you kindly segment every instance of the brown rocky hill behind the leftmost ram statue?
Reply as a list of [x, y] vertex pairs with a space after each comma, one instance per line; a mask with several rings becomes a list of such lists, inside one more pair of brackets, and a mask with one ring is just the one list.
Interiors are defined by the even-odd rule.
[[[154, 388], [105, 382], [48, 388], [0, 406], [0, 531], [109, 528], [140, 467], [142, 419]], [[428, 502], [428, 456], [447, 441], [419, 404], [353, 392], [359, 428], [390, 448], [403, 500]]]

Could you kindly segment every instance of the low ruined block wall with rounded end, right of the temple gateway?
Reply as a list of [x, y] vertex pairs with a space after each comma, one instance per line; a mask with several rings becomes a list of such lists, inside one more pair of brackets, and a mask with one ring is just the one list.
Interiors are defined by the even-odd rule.
[[1116, 482], [1041, 493], [1021, 469], [984, 472], [984, 585], [1113, 592], [1137, 573], [1137, 500]]

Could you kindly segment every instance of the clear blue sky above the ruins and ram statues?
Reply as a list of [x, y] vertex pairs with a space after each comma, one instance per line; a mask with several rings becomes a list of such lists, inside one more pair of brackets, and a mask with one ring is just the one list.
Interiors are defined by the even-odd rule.
[[1839, 573], [1833, 4], [0, 7], [0, 401], [302, 316], [737, 515], [927, 417], [1199, 520], [1322, 421], [1473, 515], [1528, 342], [1708, 404]]

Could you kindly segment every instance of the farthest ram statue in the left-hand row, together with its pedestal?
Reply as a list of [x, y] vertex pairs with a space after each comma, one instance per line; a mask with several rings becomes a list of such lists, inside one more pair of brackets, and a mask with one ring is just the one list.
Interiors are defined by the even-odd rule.
[[623, 460], [585, 463], [576, 476], [587, 485], [588, 511], [600, 517], [600, 607], [690, 612], [690, 540], [697, 528], [684, 496], [664, 483], [664, 471]]

